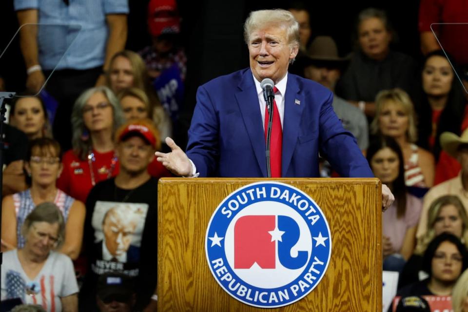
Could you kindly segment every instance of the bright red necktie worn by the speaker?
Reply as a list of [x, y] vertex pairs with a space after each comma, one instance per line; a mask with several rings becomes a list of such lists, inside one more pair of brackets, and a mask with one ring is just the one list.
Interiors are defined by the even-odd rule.
[[[273, 92], [278, 92], [276, 87], [273, 88]], [[268, 129], [268, 107], [265, 107], [265, 141], [267, 140], [267, 129]], [[272, 171], [272, 177], [281, 177], [281, 148], [283, 146], [283, 129], [281, 128], [281, 119], [279, 118], [278, 107], [276, 107], [276, 101], [273, 99], [273, 124], [272, 124], [272, 135], [270, 137], [270, 167]]]

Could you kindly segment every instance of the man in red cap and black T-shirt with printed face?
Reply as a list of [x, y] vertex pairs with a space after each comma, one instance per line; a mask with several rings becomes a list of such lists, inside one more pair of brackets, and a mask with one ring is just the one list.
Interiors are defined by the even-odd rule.
[[95, 309], [98, 277], [111, 270], [132, 277], [136, 311], [156, 306], [157, 179], [147, 168], [159, 146], [148, 119], [128, 121], [116, 132], [120, 171], [96, 184], [86, 201], [89, 266], [80, 291], [83, 311]]

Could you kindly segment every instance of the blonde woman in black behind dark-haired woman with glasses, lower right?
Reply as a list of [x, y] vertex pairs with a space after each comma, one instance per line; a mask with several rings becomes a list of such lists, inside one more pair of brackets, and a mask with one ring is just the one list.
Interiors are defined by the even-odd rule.
[[468, 245], [468, 217], [458, 196], [445, 195], [437, 198], [428, 211], [428, 228], [418, 240], [414, 254], [406, 263], [398, 280], [399, 288], [422, 280], [428, 276], [422, 270], [423, 254], [434, 237], [450, 233], [458, 237], [465, 246]]

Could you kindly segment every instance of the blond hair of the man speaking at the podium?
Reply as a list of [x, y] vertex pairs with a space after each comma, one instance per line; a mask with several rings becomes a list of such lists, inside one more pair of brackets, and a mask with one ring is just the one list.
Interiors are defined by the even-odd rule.
[[[290, 48], [299, 48], [299, 23], [291, 12], [282, 9], [252, 11], [244, 23], [244, 40], [249, 45], [250, 35], [256, 29], [277, 24], [284, 26], [287, 31]], [[292, 63], [293, 59], [291, 60]]]

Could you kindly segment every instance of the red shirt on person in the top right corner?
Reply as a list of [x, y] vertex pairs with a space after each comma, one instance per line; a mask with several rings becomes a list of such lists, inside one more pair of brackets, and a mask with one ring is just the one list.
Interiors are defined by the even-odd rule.
[[[468, 23], [468, 0], [421, 0], [419, 32], [432, 23]], [[442, 48], [461, 65], [468, 64], [468, 25], [432, 25]]]

